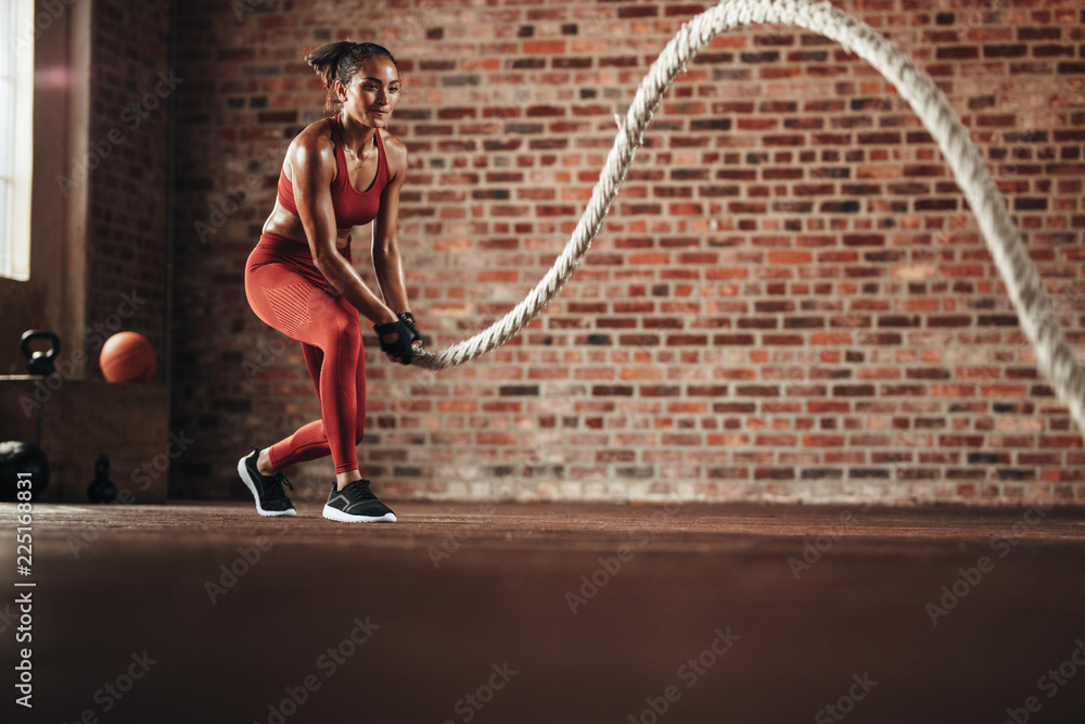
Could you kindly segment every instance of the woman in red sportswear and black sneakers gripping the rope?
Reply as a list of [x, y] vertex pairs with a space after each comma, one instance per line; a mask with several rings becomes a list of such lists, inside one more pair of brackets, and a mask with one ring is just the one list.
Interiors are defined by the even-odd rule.
[[[245, 294], [260, 319], [302, 343], [320, 419], [270, 447], [254, 447], [238, 462], [238, 473], [261, 516], [293, 516], [282, 483], [294, 486], [282, 469], [331, 454], [335, 482], [324, 518], [395, 521], [358, 470], [356, 446], [366, 418], [358, 314], [375, 325], [390, 359], [410, 364], [411, 347], [421, 346], [422, 336], [410, 314], [396, 241], [407, 148], [385, 130], [403, 77], [392, 53], [369, 42], [329, 43], [306, 61], [323, 78], [329, 105], [340, 110], [290, 144], [275, 209], [248, 257]], [[350, 228], [370, 221], [383, 300], [350, 264]]]

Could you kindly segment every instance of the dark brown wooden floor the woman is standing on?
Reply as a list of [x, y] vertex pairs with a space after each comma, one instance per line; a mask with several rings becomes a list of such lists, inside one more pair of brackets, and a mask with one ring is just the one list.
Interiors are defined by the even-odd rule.
[[1085, 721], [1081, 509], [394, 507], [3, 505], [2, 721]]

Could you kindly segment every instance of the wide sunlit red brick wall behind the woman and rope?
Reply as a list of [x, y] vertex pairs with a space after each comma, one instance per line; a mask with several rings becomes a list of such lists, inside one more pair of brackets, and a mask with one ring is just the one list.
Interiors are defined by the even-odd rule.
[[[973, 130], [1080, 345], [1081, 3], [838, 4]], [[323, 115], [308, 48], [372, 40], [406, 69], [399, 237], [436, 350], [550, 266], [614, 114], [701, 9], [186, 3], [174, 419], [200, 442], [173, 493], [240, 493], [245, 446], [318, 414], [299, 351], [248, 309], [242, 279], [285, 144]], [[690, 64], [605, 232], [526, 333], [436, 376], [367, 343], [359, 455], [390, 499], [1085, 503], [1081, 432], [1037, 378], [940, 152], [872, 68], [804, 31], [729, 33]], [[314, 497], [330, 474], [294, 471]]]

